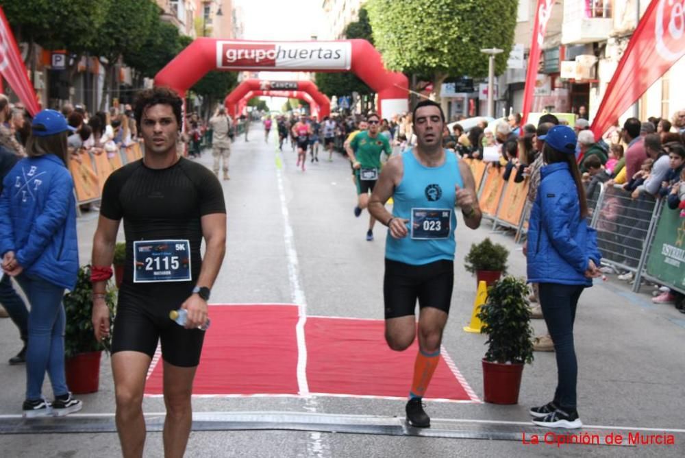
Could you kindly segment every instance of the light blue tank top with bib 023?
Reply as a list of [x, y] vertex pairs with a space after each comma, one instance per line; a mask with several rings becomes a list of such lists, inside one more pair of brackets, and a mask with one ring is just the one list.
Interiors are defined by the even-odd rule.
[[464, 187], [456, 156], [445, 152], [443, 165], [425, 167], [414, 157], [413, 149], [408, 149], [402, 153], [402, 163], [402, 181], [393, 194], [393, 216], [409, 220], [409, 233], [395, 239], [388, 230], [386, 258], [411, 265], [453, 261], [457, 227], [454, 186]]

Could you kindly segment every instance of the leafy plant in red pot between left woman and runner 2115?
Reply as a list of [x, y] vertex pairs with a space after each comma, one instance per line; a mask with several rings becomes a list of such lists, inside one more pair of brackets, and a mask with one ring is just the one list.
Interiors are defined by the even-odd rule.
[[[115, 293], [108, 288], [105, 302], [114, 312]], [[66, 384], [76, 394], [93, 393], [98, 390], [100, 380], [100, 359], [102, 350], [110, 349], [110, 337], [103, 341], [95, 340], [92, 330], [92, 285], [90, 284], [90, 265], [79, 269], [78, 279], [73, 291], [64, 295], [62, 300], [66, 314], [64, 330], [64, 357]], [[110, 336], [112, 322], [110, 322]]]

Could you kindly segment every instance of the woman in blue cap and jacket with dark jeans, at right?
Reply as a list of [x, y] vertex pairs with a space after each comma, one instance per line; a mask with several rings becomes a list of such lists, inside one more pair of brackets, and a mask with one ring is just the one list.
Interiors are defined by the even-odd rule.
[[528, 281], [540, 284], [540, 306], [556, 351], [558, 383], [551, 402], [533, 407], [534, 424], [580, 428], [576, 407], [578, 365], [573, 346], [575, 309], [583, 289], [601, 276], [595, 230], [588, 228], [588, 204], [575, 162], [573, 129], [557, 125], [545, 141], [541, 181], [527, 243]]

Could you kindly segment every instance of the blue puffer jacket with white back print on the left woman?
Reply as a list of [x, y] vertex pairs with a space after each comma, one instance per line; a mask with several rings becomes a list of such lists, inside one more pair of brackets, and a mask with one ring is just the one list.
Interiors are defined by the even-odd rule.
[[73, 289], [79, 252], [71, 173], [48, 154], [20, 160], [3, 184], [0, 255], [14, 251], [27, 276]]

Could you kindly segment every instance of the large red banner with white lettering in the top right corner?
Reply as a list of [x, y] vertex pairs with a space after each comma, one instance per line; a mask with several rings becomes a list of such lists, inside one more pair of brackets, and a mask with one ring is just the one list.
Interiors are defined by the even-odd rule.
[[599, 104], [592, 125], [595, 138], [606, 132], [682, 56], [685, 0], [652, 0]]

